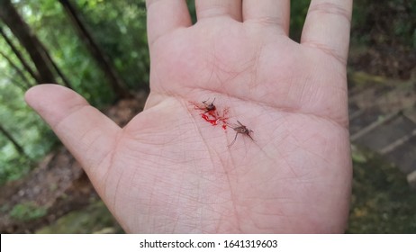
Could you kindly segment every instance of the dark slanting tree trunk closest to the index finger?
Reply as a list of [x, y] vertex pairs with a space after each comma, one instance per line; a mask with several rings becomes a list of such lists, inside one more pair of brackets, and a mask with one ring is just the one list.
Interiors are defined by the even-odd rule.
[[74, 24], [79, 37], [84, 40], [87, 48], [95, 58], [98, 66], [103, 70], [104, 75], [110, 82], [114, 93], [119, 98], [131, 97], [126, 85], [122, 81], [122, 78], [117, 75], [111, 61], [105, 56], [104, 52], [98, 47], [90, 33], [86, 30], [86, 26], [81, 22], [77, 14], [76, 8], [68, 0], [59, 0], [60, 4], [64, 7], [71, 22]]

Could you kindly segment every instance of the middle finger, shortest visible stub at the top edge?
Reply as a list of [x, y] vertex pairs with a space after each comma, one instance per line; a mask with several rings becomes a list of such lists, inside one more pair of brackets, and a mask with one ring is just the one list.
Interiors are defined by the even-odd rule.
[[198, 21], [217, 16], [241, 21], [241, 0], [195, 0], [195, 7]]

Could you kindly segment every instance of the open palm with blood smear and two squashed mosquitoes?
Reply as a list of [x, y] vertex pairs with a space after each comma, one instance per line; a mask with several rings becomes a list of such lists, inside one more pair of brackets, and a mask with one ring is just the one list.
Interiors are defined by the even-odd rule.
[[[352, 0], [312, 0], [301, 43], [289, 0], [148, 0], [150, 94], [120, 128], [78, 94], [26, 94], [128, 232], [343, 232], [351, 160]], [[48, 97], [48, 98], [45, 98]], [[215, 98], [250, 139], [203, 121]]]

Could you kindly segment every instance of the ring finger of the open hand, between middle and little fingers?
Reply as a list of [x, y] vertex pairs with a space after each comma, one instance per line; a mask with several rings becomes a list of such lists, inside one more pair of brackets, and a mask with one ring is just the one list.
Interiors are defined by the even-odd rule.
[[271, 26], [288, 34], [290, 0], [244, 0], [243, 19], [244, 23]]

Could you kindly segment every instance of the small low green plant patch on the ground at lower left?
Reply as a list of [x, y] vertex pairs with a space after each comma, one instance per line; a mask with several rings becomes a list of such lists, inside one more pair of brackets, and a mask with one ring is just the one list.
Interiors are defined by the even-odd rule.
[[46, 208], [38, 206], [35, 202], [23, 202], [16, 204], [9, 214], [14, 220], [28, 221], [39, 219], [47, 212]]

